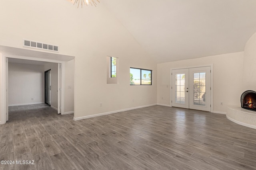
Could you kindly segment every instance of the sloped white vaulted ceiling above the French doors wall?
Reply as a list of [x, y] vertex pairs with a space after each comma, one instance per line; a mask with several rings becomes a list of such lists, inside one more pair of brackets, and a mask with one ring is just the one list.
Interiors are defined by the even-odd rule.
[[101, 0], [158, 63], [244, 51], [256, 0]]

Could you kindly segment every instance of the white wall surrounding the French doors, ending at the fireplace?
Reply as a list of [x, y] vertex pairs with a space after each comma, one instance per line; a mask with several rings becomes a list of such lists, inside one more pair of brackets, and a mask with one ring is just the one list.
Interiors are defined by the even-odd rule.
[[[158, 104], [170, 105], [173, 68], [213, 64], [213, 111], [226, 112], [227, 105], [240, 105], [244, 53], [230, 53], [158, 64]], [[163, 99], [162, 99], [163, 98]], [[220, 105], [223, 102], [223, 105]]]

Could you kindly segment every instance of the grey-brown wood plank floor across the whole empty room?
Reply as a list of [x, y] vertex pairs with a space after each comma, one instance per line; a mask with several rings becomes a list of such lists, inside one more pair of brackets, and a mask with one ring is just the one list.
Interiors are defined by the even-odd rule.
[[256, 129], [225, 115], [151, 106], [73, 121], [44, 104], [10, 107], [0, 170], [256, 169]]

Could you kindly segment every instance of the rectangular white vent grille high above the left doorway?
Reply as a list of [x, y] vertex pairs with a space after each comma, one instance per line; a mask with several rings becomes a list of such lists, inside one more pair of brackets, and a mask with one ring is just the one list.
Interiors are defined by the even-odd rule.
[[32, 41], [27, 39], [23, 39], [23, 47], [30, 47], [35, 49], [43, 49], [43, 50], [59, 52], [58, 45], [52, 45], [48, 43], [42, 43], [42, 42]]

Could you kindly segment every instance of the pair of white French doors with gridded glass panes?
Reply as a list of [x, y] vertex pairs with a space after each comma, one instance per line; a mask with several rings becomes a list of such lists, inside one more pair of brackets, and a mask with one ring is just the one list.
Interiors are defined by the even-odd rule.
[[210, 111], [210, 66], [172, 70], [172, 106]]

